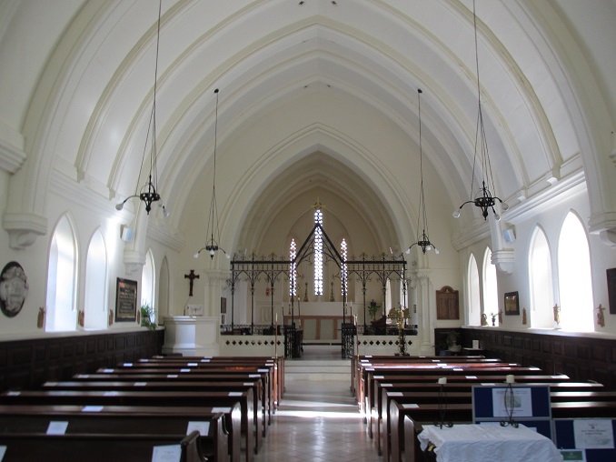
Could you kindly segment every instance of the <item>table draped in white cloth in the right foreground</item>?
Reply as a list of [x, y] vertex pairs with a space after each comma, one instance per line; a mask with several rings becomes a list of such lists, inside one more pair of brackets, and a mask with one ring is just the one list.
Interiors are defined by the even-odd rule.
[[417, 436], [422, 451], [430, 443], [439, 462], [541, 462], [562, 461], [550, 438], [529, 427], [500, 424], [423, 426]]

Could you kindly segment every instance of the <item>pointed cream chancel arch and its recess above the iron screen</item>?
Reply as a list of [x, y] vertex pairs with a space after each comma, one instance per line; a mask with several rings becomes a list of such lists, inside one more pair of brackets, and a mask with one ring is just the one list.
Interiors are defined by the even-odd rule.
[[[371, 254], [389, 246], [401, 248], [402, 242], [412, 241], [414, 198], [406, 197], [399, 178], [370, 160], [379, 156], [361, 152], [360, 146], [353, 146], [343, 134], [332, 132], [330, 127], [318, 124], [308, 127], [293, 143], [268, 153], [272, 162], [255, 166], [247, 180], [233, 190], [225, 210], [245, 211], [243, 216], [224, 216], [221, 220], [224, 229], [230, 231], [227, 235], [234, 236], [233, 246], [258, 248], [269, 224], [284, 207], [305, 205], [295, 206], [286, 217], [293, 223], [317, 196], [325, 206], [325, 214], [333, 214], [343, 223], [349, 222], [349, 214], [361, 220], [363, 232], [375, 242], [367, 248]], [[281, 163], [274, 156], [285, 161]], [[263, 171], [264, 166], [270, 169]], [[408, 178], [404, 180], [408, 182]], [[333, 204], [333, 198], [340, 202]], [[325, 224], [325, 228], [329, 233], [330, 227]], [[357, 245], [359, 241], [352, 238]]]

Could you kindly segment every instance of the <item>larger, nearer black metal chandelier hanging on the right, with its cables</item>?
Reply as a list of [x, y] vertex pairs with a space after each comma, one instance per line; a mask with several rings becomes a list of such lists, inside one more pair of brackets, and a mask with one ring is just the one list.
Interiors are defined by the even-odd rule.
[[[475, 33], [475, 65], [477, 69], [477, 105], [478, 105], [478, 115], [477, 115], [477, 131], [475, 133], [475, 153], [472, 160], [472, 177], [471, 177], [471, 196], [473, 191], [473, 185], [475, 180], [475, 169], [477, 168], [477, 156], [480, 156], [479, 162], [481, 163], [481, 173], [482, 173], [482, 186], [479, 188], [474, 198], [467, 200], [457, 208], [453, 212], [453, 216], [458, 218], [460, 216], [460, 211], [462, 207], [467, 204], [474, 204], [482, 210], [482, 216], [484, 220], [488, 219], [489, 211], [492, 210], [494, 214], [494, 219], [499, 221], [501, 216], [494, 209], [494, 206], [497, 204], [501, 205], [502, 211], [506, 211], [509, 209], [509, 206], [497, 196], [493, 196], [492, 193], [495, 191], [494, 188], [494, 180], [492, 177], [492, 164], [490, 163], [490, 156], [488, 154], [488, 143], [485, 138], [485, 128], [483, 126], [483, 114], [482, 114], [482, 93], [481, 93], [481, 85], [479, 79], [479, 51], [477, 46], [477, 15], [475, 14], [475, 1], [472, 2], [472, 18], [473, 18], [473, 26]], [[487, 184], [486, 184], [487, 179]]]

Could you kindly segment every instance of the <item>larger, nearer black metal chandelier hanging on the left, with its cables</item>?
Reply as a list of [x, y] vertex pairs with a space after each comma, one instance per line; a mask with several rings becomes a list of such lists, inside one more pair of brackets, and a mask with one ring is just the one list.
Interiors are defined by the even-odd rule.
[[[152, 204], [154, 202], [158, 202], [161, 200], [161, 195], [158, 193], [158, 171], [157, 171], [157, 163], [156, 163], [156, 90], [158, 89], [158, 53], [160, 49], [160, 41], [161, 41], [161, 11], [162, 11], [162, 0], [158, 3], [158, 24], [156, 26], [156, 61], [154, 65], [154, 103], [152, 104], [152, 112], [150, 113], [150, 123], [148, 125], [147, 135], [145, 136], [145, 146], [144, 146], [144, 156], [142, 159], [141, 166], [144, 166], [144, 158], [145, 153], [147, 152], [147, 142], [150, 138], [150, 130], [152, 131], [152, 156], [150, 156], [150, 174], [147, 177], [147, 184], [145, 184], [139, 193], [137, 193], [136, 189], [133, 196], [128, 196], [119, 204], [115, 205], [116, 210], [122, 210], [124, 208], [124, 204], [129, 199], [133, 197], [139, 197], [139, 200], [143, 201], [145, 204], [145, 212], [147, 215], [150, 215], [150, 211], [152, 210]], [[141, 177], [141, 171], [139, 172], [138, 178]], [[137, 185], [138, 187], [138, 185]], [[160, 204], [163, 208], [164, 216], [169, 216], [169, 211], [164, 206], [163, 203]]]

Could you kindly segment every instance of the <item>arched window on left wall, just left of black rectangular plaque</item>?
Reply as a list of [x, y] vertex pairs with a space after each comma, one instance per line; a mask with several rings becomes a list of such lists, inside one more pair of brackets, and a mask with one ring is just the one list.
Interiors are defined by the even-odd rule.
[[103, 235], [94, 232], [85, 260], [84, 328], [107, 327], [107, 251]]

